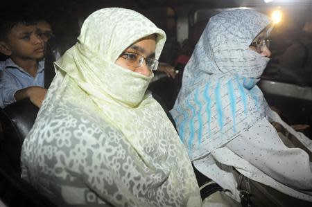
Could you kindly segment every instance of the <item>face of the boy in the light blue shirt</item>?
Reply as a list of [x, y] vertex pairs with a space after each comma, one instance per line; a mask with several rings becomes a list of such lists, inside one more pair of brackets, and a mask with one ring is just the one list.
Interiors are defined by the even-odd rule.
[[44, 42], [37, 35], [36, 25], [15, 25], [1, 43], [1, 53], [12, 59], [40, 60], [44, 56]]

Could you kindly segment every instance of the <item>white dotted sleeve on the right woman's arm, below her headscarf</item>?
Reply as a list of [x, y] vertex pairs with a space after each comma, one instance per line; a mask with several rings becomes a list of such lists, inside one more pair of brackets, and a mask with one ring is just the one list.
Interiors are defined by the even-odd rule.
[[286, 147], [268, 120], [259, 121], [227, 143], [227, 147], [286, 186], [312, 190], [309, 155], [300, 148]]

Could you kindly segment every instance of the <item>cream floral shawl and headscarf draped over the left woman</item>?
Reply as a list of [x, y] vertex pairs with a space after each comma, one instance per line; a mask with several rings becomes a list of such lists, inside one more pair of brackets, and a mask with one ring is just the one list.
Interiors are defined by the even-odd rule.
[[162, 107], [146, 92], [153, 78], [114, 64], [157, 34], [143, 15], [105, 8], [90, 15], [24, 142], [22, 177], [62, 206], [200, 206], [187, 152]]

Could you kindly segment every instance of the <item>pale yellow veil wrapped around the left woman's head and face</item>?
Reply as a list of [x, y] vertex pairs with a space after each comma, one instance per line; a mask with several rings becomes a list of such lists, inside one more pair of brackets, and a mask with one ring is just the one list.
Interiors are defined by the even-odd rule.
[[56, 67], [71, 76], [95, 100], [135, 107], [143, 99], [153, 76], [146, 78], [115, 62], [125, 48], [151, 34], [157, 35], [155, 57], [158, 58], [166, 35], [143, 15], [120, 10], [103, 9], [90, 15], [81, 28], [77, 44]]

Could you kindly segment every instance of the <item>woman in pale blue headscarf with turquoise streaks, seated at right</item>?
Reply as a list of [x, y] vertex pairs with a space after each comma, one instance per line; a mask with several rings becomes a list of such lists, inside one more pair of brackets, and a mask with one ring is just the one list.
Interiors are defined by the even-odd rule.
[[312, 142], [257, 87], [270, 30], [254, 10], [211, 17], [171, 114], [195, 168], [242, 206], [311, 206]]

